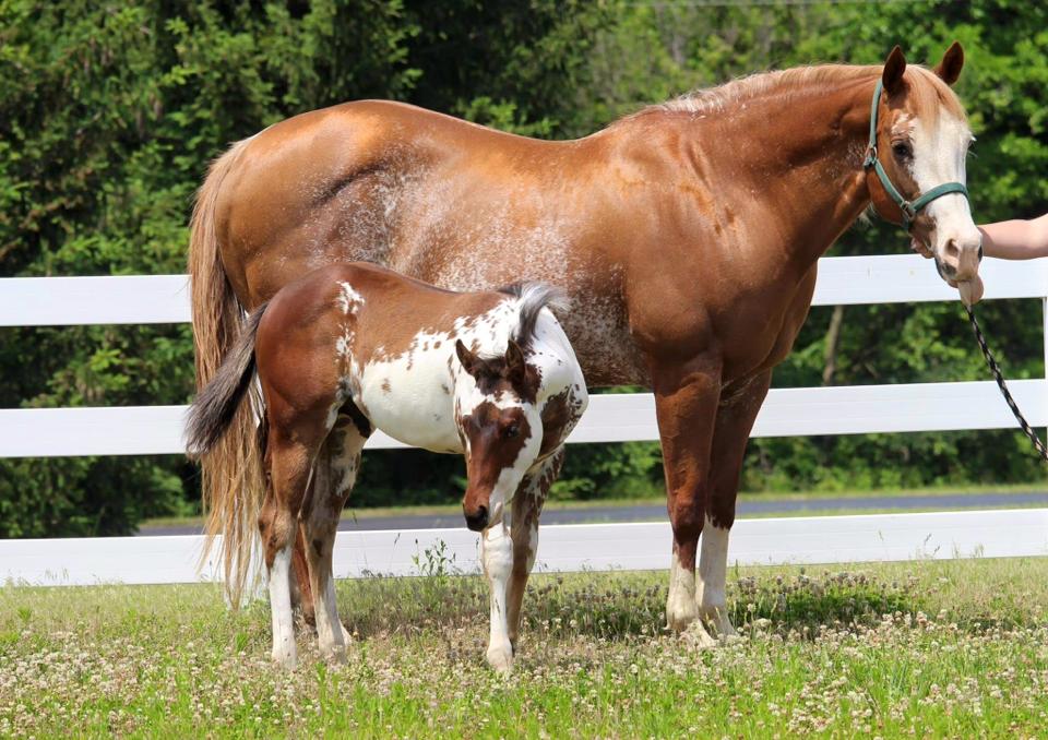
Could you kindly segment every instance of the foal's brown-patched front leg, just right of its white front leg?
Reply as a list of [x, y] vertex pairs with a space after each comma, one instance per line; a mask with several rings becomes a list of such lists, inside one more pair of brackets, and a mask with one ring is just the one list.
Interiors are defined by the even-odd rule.
[[541, 463], [527, 472], [516, 494], [513, 497], [513, 522], [510, 536], [513, 539], [513, 573], [510, 576], [507, 610], [510, 630], [510, 645], [516, 653], [521, 633], [521, 604], [527, 577], [535, 565], [535, 552], [538, 550], [538, 517], [546, 503], [549, 487], [560, 475], [564, 463], [564, 447], [561, 445]]

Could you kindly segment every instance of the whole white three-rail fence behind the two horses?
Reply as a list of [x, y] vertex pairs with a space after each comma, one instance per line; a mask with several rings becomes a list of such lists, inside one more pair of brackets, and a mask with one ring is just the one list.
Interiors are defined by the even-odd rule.
[[[916, 255], [826, 258], [814, 305], [956, 300], [930, 262]], [[1048, 357], [1048, 260], [987, 260], [986, 299], [1039, 298]], [[960, 315], [960, 311], [958, 311]], [[958, 321], [961, 319], [958, 318]], [[0, 281], [0, 326], [189, 321], [182, 275]], [[992, 334], [992, 332], [991, 332]], [[884, 337], [885, 342], [900, 341]], [[977, 351], [973, 342], [973, 351]], [[1048, 367], [1048, 363], [1046, 363]], [[1048, 380], [1010, 383], [1037, 427], [1048, 425]], [[0, 457], [180, 454], [183, 406], [2, 409]], [[773, 390], [754, 437], [1011, 428], [991, 381]], [[597, 395], [569, 442], [656, 440], [651, 394]], [[401, 446], [376, 434], [369, 447]], [[919, 464], [919, 462], [915, 463]], [[338, 575], [409, 574], [442, 540], [456, 564], [476, 568], [477, 537], [463, 529], [340, 533]], [[669, 529], [659, 524], [544, 527], [539, 568], [664, 568]], [[53, 584], [181, 583], [212, 577], [192, 568], [198, 537], [0, 541], [0, 581]], [[847, 562], [957, 554], [1048, 554], [1048, 509], [743, 521], [733, 562]]]

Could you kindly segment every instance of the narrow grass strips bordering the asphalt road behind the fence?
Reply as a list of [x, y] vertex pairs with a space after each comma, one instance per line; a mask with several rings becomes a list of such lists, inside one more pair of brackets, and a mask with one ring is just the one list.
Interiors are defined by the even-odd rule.
[[[837, 514], [889, 514], [895, 512], [919, 512], [937, 511], [936, 506], [925, 509], [886, 506], [884, 509], [858, 509], [841, 506], [821, 506], [820, 501], [827, 499], [865, 499], [865, 498], [888, 498], [905, 499], [913, 496], [977, 496], [980, 493], [1026, 493], [1029, 491], [1044, 490], [1037, 484], [1008, 485], [1008, 486], [954, 486], [943, 488], [920, 488], [920, 489], [885, 489], [885, 490], [842, 490], [842, 491], [800, 491], [784, 493], [778, 491], [742, 491], [739, 493], [740, 501], [806, 501], [812, 505], [810, 509], [796, 512], [781, 512], [769, 514], [749, 514], [749, 518], [767, 516], [814, 516], [814, 515], [837, 515]], [[561, 510], [588, 510], [603, 509], [606, 506], [645, 506], [666, 504], [665, 497], [657, 496], [639, 499], [595, 499], [590, 501], [551, 501], [546, 504], [547, 509]], [[1012, 509], [1038, 508], [1044, 504], [1009, 504]], [[970, 506], [979, 509], [981, 506]], [[457, 503], [430, 504], [419, 506], [377, 506], [373, 509], [348, 509], [343, 514], [343, 518], [368, 520], [383, 516], [455, 516], [462, 513], [462, 508]], [[596, 517], [595, 520], [596, 521]], [[148, 530], [151, 527], [170, 527], [170, 526], [202, 526], [202, 520], [199, 516], [188, 517], [160, 517], [143, 522], [142, 529]]]

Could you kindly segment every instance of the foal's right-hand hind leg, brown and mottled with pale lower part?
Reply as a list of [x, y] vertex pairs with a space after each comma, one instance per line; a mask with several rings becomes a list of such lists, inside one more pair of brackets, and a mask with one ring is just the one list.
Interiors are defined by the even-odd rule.
[[348, 635], [335, 605], [331, 558], [338, 520], [356, 482], [360, 451], [366, 440], [348, 415], [338, 417], [317, 458], [315, 485], [302, 514], [310, 588], [315, 605], [317, 640], [321, 654], [337, 661], [346, 659]]

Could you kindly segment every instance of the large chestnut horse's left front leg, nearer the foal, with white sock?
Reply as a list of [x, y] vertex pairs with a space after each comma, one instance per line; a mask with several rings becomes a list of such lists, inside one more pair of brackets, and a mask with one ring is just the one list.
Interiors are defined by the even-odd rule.
[[[710, 451], [720, 396], [720, 363], [707, 358], [671, 365], [653, 362], [652, 380], [666, 472], [667, 509], [674, 530], [666, 623], [680, 632], [699, 616], [695, 554], [705, 517]], [[701, 623], [695, 629], [702, 643], [713, 642]]]

